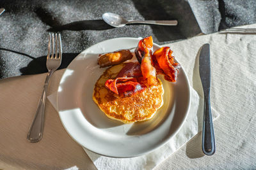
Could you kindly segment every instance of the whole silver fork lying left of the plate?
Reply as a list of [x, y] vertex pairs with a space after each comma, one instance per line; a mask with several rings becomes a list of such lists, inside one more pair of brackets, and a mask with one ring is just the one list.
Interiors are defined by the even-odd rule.
[[49, 33], [48, 53], [47, 53], [47, 60], [46, 60], [48, 73], [44, 83], [44, 91], [40, 98], [38, 108], [36, 110], [35, 118], [33, 119], [33, 122], [29, 128], [29, 132], [27, 136], [28, 141], [32, 143], [38, 142], [42, 139], [43, 129], [44, 129], [44, 111], [45, 111], [45, 99], [46, 99], [47, 88], [48, 88], [49, 80], [52, 74], [54, 73], [54, 71], [56, 71], [56, 69], [58, 69], [58, 67], [60, 67], [61, 58], [62, 58], [61, 36], [60, 34]]

